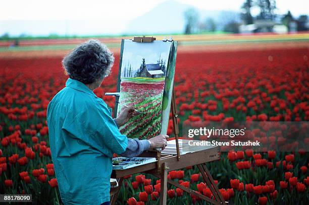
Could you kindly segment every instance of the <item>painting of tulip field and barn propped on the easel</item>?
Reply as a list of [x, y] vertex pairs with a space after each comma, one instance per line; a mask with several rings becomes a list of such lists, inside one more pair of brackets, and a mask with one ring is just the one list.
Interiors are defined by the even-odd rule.
[[[176, 44], [176, 47], [175, 47]], [[175, 73], [177, 42], [139, 43], [122, 40], [117, 115], [133, 105], [135, 115], [120, 132], [128, 138], [149, 139], [166, 134]]]

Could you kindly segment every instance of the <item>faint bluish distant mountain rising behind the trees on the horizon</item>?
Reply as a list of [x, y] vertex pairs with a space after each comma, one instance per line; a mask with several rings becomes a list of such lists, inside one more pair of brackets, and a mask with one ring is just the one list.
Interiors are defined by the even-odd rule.
[[[163, 2], [129, 22], [123, 33], [133, 35], [183, 33], [185, 28], [184, 12], [189, 8], [194, 7], [173, 0]], [[194, 9], [198, 13], [200, 22], [204, 22], [206, 18], [213, 18], [219, 30], [231, 19], [240, 21], [240, 15], [237, 12]]]

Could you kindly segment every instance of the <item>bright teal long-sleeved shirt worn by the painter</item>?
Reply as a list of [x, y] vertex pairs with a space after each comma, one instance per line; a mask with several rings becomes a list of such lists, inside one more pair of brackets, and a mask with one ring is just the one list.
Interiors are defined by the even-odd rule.
[[68, 79], [47, 107], [49, 146], [65, 204], [110, 200], [113, 153], [125, 152], [107, 104], [85, 84]]

